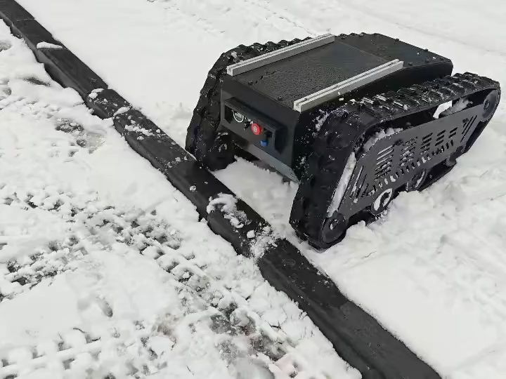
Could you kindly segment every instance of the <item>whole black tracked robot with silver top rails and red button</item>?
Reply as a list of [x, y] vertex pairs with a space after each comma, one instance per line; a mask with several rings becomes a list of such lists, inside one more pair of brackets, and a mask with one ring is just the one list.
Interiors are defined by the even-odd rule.
[[209, 72], [186, 149], [210, 170], [244, 154], [299, 182], [290, 224], [327, 248], [448, 173], [484, 130], [498, 82], [452, 69], [381, 34], [238, 46]]

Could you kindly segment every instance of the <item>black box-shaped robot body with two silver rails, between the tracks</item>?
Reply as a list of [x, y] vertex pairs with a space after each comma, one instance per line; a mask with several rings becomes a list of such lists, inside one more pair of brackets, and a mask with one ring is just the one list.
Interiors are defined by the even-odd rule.
[[[291, 55], [285, 55], [288, 52]], [[318, 76], [320, 71], [306, 67], [308, 60], [314, 62], [319, 58], [324, 61], [321, 65], [325, 67], [325, 80]], [[249, 71], [228, 74], [237, 69]], [[221, 133], [230, 133], [240, 149], [299, 182], [325, 112], [365, 95], [396, 91], [406, 83], [421, 84], [444, 77], [452, 69], [447, 58], [381, 34], [335, 36], [335, 39], [325, 35], [302, 41], [228, 65], [221, 85]], [[296, 78], [292, 77], [294, 72]], [[342, 80], [332, 83], [334, 77]], [[301, 89], [293, 101], [276, 98], [279, 88], [287, 85], [287, 78], [296, 86], [304, 84], [301, 87], [306, 90], [317, 91], [304, 93]], [[325, 83], [331, 85], [323, 86]], [[275, 86], [277, 89], [273, 90]], [[234, 112], [242, 115], [242, 121], [233, 117]], [[249, 129], [252, 123], [261, 125], [264, 133], [254, 135]]]

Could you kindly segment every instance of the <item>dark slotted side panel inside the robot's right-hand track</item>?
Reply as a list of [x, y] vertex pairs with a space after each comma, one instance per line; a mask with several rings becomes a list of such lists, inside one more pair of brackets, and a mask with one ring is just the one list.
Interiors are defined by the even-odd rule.
[[448, 159], [465, 145], [476, 128], [479, 108], [465, 109], [458, 112], [457, 118], [453, 114], [377, 140], [358, 157], [339, 212], [353, 215], [369, 206], [377, 192], [403, 187], [420, 171], [429, 171]]

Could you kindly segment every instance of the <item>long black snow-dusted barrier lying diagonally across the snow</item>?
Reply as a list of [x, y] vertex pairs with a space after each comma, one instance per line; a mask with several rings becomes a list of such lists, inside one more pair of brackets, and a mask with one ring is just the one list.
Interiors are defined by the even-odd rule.
[[[231, 242], [238, 253], [249, 255], [247, 232], [268, 226], [258, 213], [239, 200], [238, 211], [245, 212], [249, 219], [242, 229], [232, 227], [221, 211], [208, 214], [206, 207], [209, 198], [219, 193], [233, 194], [230, 189], [198, 166], [195, 159], [168, 135], [158, 133], [152, 121], [132, 109], [114, 90], [108, 89], [104, 81], [67, 48], [37, 49], [37, 44], [43, 41], [63, 45], [14, 0], [0, 0], [0, 17], [11, 27], [13, 34], [25, 39], [54, 80], [74, 88], [99, 117], [113, 117], [115, 128], [129, 145], [162, 171], [174, 187], [195, 204], [202, 218], [209, 222], [209, 227]], [[94, 99], [90, 98], [89, 94], [96, 88], [104, 88], [105, 91], [98, 93]], [[115, 116], [121, 107], [129, 107], [129, 110]], [[126, 130], [125, 126], [132, 125], [132, 121], [150, 133], [139, 138], [135, 131]], [[196, 190], [190, 189], [193, 186]], [[348, 300], [330, 279], [318, 272], [287, 240], [279, 239], [275, 246], [267, 248], [258, 265], [264, 278], [299, 303], [299, 307], [309, 314], [332, 342], [337, 353], [361, 371], [363, 378], [440, 378], [406, 345]]]

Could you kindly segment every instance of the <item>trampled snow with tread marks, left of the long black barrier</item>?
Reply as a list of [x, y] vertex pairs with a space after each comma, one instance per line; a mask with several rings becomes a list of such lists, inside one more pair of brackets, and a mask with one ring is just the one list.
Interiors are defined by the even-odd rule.
[[0, 22], [0, 378], [360, 378]]

